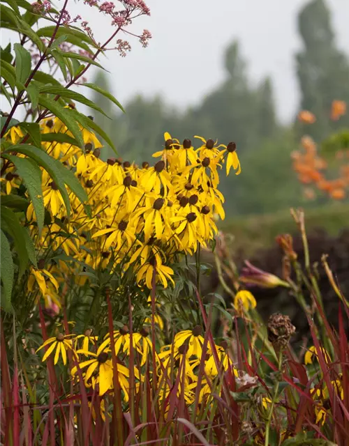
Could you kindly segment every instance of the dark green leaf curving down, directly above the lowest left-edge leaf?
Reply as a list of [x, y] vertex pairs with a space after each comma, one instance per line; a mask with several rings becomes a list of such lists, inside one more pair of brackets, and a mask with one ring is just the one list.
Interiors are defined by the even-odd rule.
[[8, 235], [13, 238], [15, 250], [18, 254], [18, 260], [20, 261], [20, 268], [18, 270], [18, 277], [20, 278], [27, 269], [29, 261], [26, 240], [23, 234], [25, 229], [22, 224], [20, 224], [20, 221], [13, 210], [10, 210], [5, 206], [0, 206], [0, 226], [3, 231], [7, 232]]

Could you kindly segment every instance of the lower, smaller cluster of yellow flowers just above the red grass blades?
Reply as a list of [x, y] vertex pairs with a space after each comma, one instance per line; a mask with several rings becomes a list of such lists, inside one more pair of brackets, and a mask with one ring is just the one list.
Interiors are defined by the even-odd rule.
[[[179, 380], [177, 397], [184, 392], [186, 404], [191, 405], [195, 401], [196, 387], [198, 386], [198, 376], [200, 362], [204, 359], [204, 373], [200, 382], [200, 393], [198, 402], [208, 403], [211, 401], [212, 386], [217, 386], [215, 392], [220, 393], [221, 381], [216, 380], [219, 371], [230, 369], [238, 376], [237, 370], [232, 365], [228, 353], [223, 346], [207, 343], [207, 351], [203, 354], [202, 348], [205, 345], [205, 339], [202, 337], [202, 328], [200, 325], [193, 330], [184, 330], [177, 333], [174, 341], [170, 345], [163, 346], [160, 353], [155, 352], [155, 346], [149, 337], [149, 330], [144, 327], [140, 332], [131, 334], [128, 327], [114, 331], [113, 342], [109, 334], [103, 339], [98, 339], [87, 330], [84, 334], [64, 335], [57, 334], [43, 343], [38, 351], [46, 348], [43, 355], [43, 361], [50, 355], [54, 356], [54, 364], [57, 364], [59, 358], [64, 364], [67, 363], [67, 353], [71, 355], [71, 360], [75, 366], [71, 369], [71, 376], [74, 380], [82, 377], [84, 385], [92, 389], [96, 388], [100, 396], [106, 392], [112, 391], [113, 376], [115, 369], [112, 362], [112, 344], [117, 356], [117, 377], [123, 391], [124, 402], [129, 400], [130, 392], [130, 354], [133, 349], [134, 364], [138, 366], [133, 369], [136, 389], [144, 382], [142, 371], [149, 360], [152, 360], [152, 354], [155, 354], [155, 373], [158, 382], [158, 391], [163, 399], [170, 394], [172, 385]], [[99, 342], [99, 345], [98, 345]], [[216, 350], [216, 359], [213, 349]], [[218, 366], [218, 367], [217, 367]], [[152, 373], [152, 372], [150, 372]], [[169, 380], [172, 383], [169, 385]]]

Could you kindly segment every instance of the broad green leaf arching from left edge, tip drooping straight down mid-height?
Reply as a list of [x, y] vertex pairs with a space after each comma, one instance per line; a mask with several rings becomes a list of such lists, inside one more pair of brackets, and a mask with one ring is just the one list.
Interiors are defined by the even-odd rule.
[[14, 155], [6, 155], [5, 157], [15, 164], [18, 175], [24, 180], [29, 197], [33, 203], [39, 233], [41, 233], [45, 218], [45, 207], [43, 203], [42, 172], [40, 167], [29, 158], [20, 158]]

